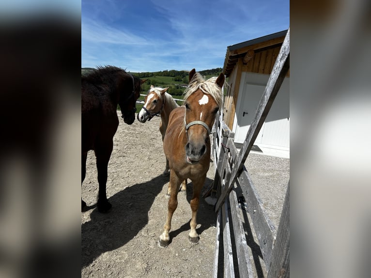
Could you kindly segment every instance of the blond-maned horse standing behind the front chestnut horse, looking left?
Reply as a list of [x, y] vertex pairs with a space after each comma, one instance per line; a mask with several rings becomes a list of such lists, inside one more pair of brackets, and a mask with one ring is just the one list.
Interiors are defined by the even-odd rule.
[[[146, 97], [144, 98], [143, 108], [140, 109], [137, 119], [140, 123], [145, 123], [150, 121], [154, 116], [161, 116], [160, 122], [160, 132], [162, 135], [162, 141], [164, 141], [166, 129], [169, 123], [170, 112], [179, 107], [175, 102], [172, 96], [166, 91], [167, 88], [154, 87], [151, 85], [151, 88], [148, 90]], [[169, 160], [166, 158], [166, 167], [163, 175], [169, 176]], [[187, 181], [182, 183], [182, 191], [186, 191]], [[168, 196], [170, 196], [170, 184], [168, 188]]]

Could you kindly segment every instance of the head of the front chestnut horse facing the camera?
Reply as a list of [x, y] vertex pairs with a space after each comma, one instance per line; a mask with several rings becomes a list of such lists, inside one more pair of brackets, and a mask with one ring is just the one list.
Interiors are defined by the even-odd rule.
[[211, 128], [217, 111], [222, 106], [222, 86], [225, 77], [204, 80], [195, 69], [189, 73], [189, 86], [185, 92], [186, 162], [198, 163], [206, 153]]

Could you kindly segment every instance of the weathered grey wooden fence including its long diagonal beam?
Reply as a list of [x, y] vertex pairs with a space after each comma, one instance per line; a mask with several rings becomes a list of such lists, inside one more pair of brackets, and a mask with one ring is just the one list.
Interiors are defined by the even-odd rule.
[[247, 245], [248, 241], [254, 241], [251, 231], [246, 231], [251, 226], [254, 228], [259, 241], [259, 253], [263, 257], [267, 270], [266, 277], [290, 277], [290, 183], [287, 186], [278, 230], [276, 231], [273, 223], [264, 212], [262, 201], [244, 165], [289, 70], [289, 56], [290, 29], [281, 46], [259, 107], [239, 152], [233, 142], [234, 134], [223, 122], [222, 115], [218, 115], [215, 121], [213, 139], [215, 177], [213, 185], [203, 195], [204, 198], [207, 196], [216, 198], [217, 225], [214, 278], [262, 277], [261, 273], [254, 273], [250, 259], [253, 258], [253, 261], [255, 261], [257, 257]]

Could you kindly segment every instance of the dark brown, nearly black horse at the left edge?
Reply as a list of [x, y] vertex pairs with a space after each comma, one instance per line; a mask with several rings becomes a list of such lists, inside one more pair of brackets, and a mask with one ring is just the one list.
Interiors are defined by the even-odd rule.
[[[88, 76], [81, 77], [81, 184], [85, 179], [88, 151], [93, 150], [98, 170], [99, 212], [111, 208], [107, 201], [106, 183], [113, 136], [119, 125], [117, 105], [120, 105], [124, 122], [133, 124], [143, 82], [113, 66], [98, 67]], [[85, 206], [81, 199], [81, 209]]]

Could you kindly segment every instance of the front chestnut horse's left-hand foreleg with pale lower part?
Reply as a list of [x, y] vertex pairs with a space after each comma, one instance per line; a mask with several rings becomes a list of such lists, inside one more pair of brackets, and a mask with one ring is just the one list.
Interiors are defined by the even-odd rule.
[[169, 231], [171, 229], [171, 218], [174, 214], [174, 211], [178, 207], [178, 191], [181, 181], [173, 170], [170, 170], [170, 187], [171, 195], [168, 202], [168, 216], [166, 217], [166, 222], [164, 225], [164, 232], [160, 235], [158, 244], [160, 247], [167, 247], [170, 241]]

